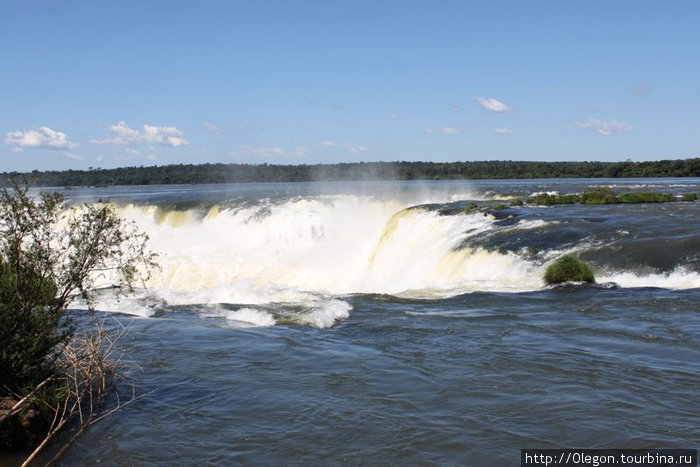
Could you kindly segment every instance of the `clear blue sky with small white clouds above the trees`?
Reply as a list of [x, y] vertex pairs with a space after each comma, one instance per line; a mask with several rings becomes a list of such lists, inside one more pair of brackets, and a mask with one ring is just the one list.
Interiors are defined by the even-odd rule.
[[700, 2], [6, 1], [0, 171], [697, 157]]

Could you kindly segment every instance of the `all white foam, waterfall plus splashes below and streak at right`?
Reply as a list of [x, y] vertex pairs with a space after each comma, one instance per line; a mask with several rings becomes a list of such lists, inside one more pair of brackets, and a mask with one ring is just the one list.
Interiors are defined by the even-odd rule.
[[[549, 262], [596, 243], [584, 237], [543, 251], [534, 262], [525, 254], [481, 248], [479, 237], [558, 221], [521, 219], [499, 225], [481, 212], [445, 215], [433, 205], [371, 196], [296, 197], [186, 210], [130, 204], [118, 211], [149, 235], [160, 255], [162, 269], [147, 284], [156, 305], [141, 300], [138, 314], [152, 313], [159, 301], [237, 304], [242, 308], [228, 310], [227, 319], [250, 325], [282, 320], [330, 326], [350, 312], [350, 305], [332, 297], [353, 293], [442, 298], [537, 290], [544, 286], [542, 259]], [[680, 269], [668, 275], [618, 272], [597, 279], [623, 287], [700, 287], [698, 273]], [[291, 315], [257, 308], [269, 304], [306, 308]], [[103, 308], [127, 308], [122, 305], [105, 303]]]

